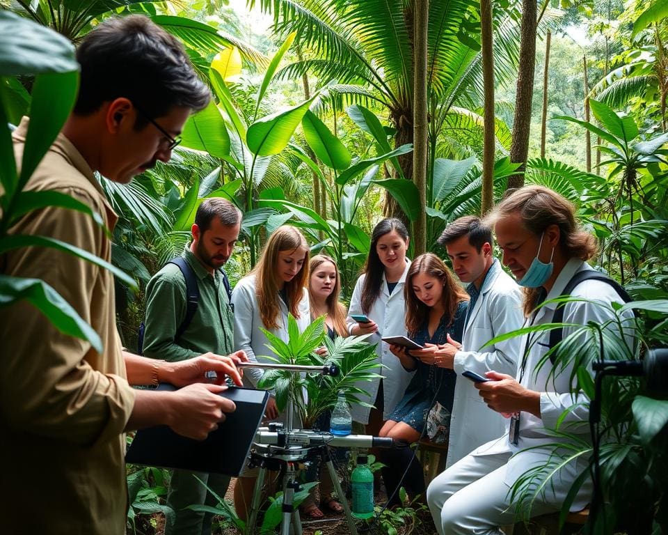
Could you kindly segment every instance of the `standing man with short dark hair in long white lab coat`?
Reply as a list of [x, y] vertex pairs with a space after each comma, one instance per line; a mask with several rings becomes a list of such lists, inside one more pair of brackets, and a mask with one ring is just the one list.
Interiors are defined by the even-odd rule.
[[471, 296], [461, 344], [449, 340], [439, 351], [447, 367], [457, 373], [445, 465], [449, 467], [505, 430], [503, 417], [489, 410], [473, 383], [461, 373], [469, 370], [479, 375], [487, 371], [514, 374], [520, 339], [485, 344], [522, 327], [524, 316], [520, 287], [492, 255], [489, 226], [472, 215], [460, 217], [445, 228], [438, 242], [445, 247], [457, 277], [468, 283], [466, 290]]

